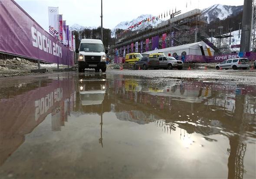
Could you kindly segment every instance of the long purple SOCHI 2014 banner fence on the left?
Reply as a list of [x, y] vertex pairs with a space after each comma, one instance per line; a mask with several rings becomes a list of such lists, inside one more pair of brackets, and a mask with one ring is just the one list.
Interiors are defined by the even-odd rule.
[[0, 1], [0, 51], [50, 63], [74, 65], [74, 53], [14, 0]]

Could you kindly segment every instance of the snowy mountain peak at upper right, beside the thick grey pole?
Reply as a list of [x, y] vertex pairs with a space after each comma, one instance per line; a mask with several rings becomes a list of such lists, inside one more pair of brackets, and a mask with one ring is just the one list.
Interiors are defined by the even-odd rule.
[[243, 6], [227, 6], [221, 4], [215, 4], [210, 6], [204, 10], [202, 13], [205, 17], [207, 17], [208, 23], [211, 21], [220, 19], [226, 19], [228, 16], [235, 16], [243, 10]]

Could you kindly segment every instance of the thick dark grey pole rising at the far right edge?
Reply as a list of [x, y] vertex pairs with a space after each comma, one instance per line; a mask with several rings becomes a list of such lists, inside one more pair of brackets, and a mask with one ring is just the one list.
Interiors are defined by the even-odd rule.
[[244, 0], [243, 9], [240, 52], [248, 52], [251, 48], [253, 0]]

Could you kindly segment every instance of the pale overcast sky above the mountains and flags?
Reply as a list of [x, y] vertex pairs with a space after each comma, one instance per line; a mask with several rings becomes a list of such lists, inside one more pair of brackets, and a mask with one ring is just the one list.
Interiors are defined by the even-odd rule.
[[[44, 29], [48, 30], [48, 6], [59, 7], [67, 25], [100, 26], [101, 0], [15, 0]], [[113, 29], [119, 22], [131, 21], [141, 14], [169, 11], [177, 7], [185, 13], [214, 4], [238, 6], [243, 0], [103, 0], [103, 26]], [[187, 8], [186, 8], [187, 4]]]

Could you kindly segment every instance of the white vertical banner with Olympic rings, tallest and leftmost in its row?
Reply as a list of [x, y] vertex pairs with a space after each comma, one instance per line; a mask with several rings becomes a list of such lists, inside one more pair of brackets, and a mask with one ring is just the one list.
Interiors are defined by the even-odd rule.
[[48, 7], [49, 33], [53, 36], [59, 36], [59, 8]]

